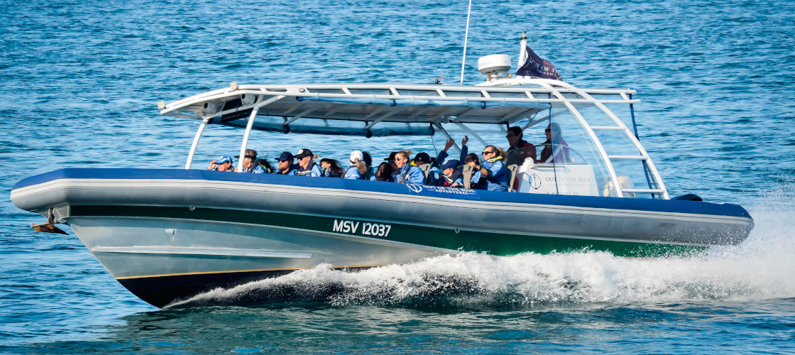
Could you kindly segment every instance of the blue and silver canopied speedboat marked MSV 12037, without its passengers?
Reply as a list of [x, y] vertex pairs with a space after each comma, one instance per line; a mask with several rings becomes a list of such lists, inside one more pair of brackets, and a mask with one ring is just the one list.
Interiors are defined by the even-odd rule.
[[[162, 115], [200, 123], [184, 169], [54, 170], [17, 182], [11, 200], [48, 218], [37, 232], [68, 224], [158, 307], [318, 265], [356, 271], [460, 252], [681, 256], [747, 238], [754, 221], [739, 205], [669, 197], [638, 138], [634, 90], [511, 76], [507, 56], [481, 59], [477, 85], [231, 83], [161, 101]], [[192, 169], [205, 128], [218, 125], [242, 128], [241, 157], [252, 130], [468, 135], [483, 146], [509, 127], [556, 132], [510, 151], [507, 191], [489, 191]]]

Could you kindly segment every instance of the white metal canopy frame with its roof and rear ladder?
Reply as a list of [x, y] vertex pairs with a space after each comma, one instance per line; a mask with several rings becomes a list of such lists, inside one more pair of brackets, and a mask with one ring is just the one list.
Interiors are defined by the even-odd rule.
[[[269, 84], [238, 85], [204, 92], [173, 103], [157, 103], [162, 115], [201, 119], [193, 138], [185, 169], [189, 169], [196, 146], [207, 124], [245, 127], [240, 156], [245, 156], [250, 132], [278, 131], [322, 135], [434, 135], [450, 137], [445, 127], [456, 127], [483, 141], [468, 123], [491, 123], [508, 127], [527, 119], [526, 129], [568, 112], [594, 143], [609, 172], [617, 196], [651, 193], [668, 199], [662, 178], [649, 154], [625, 123], [605, 105], [638, 103], [631, 89], [583, 89], [559, 80], [515, 77], [480, 85], [430, 84]], [[598, 107], [611, 124], [591, 125], [580, 110]], [[552, 113], [552, 108], [564, 109]], [[541, 112], [549, 115], [538, 118]], [[247, 120], [243, 120], [248, 117]], [[634, 128], [634, 127], [633, 127]], [[620, 131], [638, 155], [607, 154], [595, 131]], [[457, 148], [457, 146], [456, 146]], [[648, 189], [622, 189], [613, 161], [638, 160], [648, 177]], [[242, 164], [238, 164], [242, 171]]]

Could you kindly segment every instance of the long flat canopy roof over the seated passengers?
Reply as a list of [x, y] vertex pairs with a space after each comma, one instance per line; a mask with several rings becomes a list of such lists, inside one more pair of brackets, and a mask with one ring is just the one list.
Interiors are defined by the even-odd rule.
[[629, 89], [582, 90], [556, 80], [521, 84], [531, 86], [232, 83], [158, 105], [163, 115], [236, 127], [246, 127], [256, 109], [255, 130], [370, 137], [433, 135], [434, 127], [445, 123], [506, 125], [567, 103], [582, 107], [637, 102], [629, 98], [634, 93]]

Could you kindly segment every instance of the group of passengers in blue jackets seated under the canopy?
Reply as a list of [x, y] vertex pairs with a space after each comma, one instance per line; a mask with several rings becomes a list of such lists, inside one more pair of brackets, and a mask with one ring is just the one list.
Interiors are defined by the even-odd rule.
[[[298, 151], [297, 154], [285, 151], [276, 160], [277, 168], [270, 166], [267, 159], [257, 159], [257, 151], [247, 149], [242, 159], [242, 171], [252, 174], [282, 174], [299, 175], [313, 178], [345, 178], [354, 180], [370, 181], [390, 181], [401, 184], [423, 184], [448, 187], [465, 187], [463, 183], [463, 172], [460, 167], [471, 166], [471, 178], [469, 181], [470, 189], [487, 189], [490, 191], [506, 191], [509, 189], [509, 174], [506, 168], [506, 157], [513, 157], [514, 162], [521, 164], [526, 158], [532, 158], [533, 162], [559, 162], [568, 161], [568, 149], [553, 150], [553, 140], [556, 145], [565, 146], [566, 143], [560, 137], [560, 127], [556, 123], [551, 123], [545, 130], [547, 141], [543, 143], [544, 149], [541, 150], [541, 157], [537, 158], [536, 148], [533, 144], [522, 139], [522, 129], [520, 127], [510, 127], [506, 134], [509, 149], [502, 150], [497, 146], [488, 145], [483, 148], [482, 160], [477, 154], [469, 153], [467, 142], [469, 137], [464, 136], [461, 140], [461, 154], [459, 159], [449, 159], [448, 150], [453, 146], [452, 138], [444, 145], [436, 159], [433, 159], [425, 152], [417, 153], [410, 159], [411, 150], [399, 150], [392, 152], [384, 162], [378, 165], [373, 171], [372, 158], [366, 151], [354, 150], [348, 159], [350, 165], [346, 168], [339, 166], [335, 159], [317, 158], [312, 150], [306, 148]], [[553, 156], [554, 152], [554, 157]], [[235, 155], [235, 158], [239, 158]], [[463, 163], [462, 163], [463, 162]], [[208, 170], [234, 171], [232, 158], [222, 155], [210, 162]], [[424, 169], [421, 169], [424, 168]], [[426, 171], [423, 171], [426, 170]], [[513, 186], [516, 189], [516, 186]]]

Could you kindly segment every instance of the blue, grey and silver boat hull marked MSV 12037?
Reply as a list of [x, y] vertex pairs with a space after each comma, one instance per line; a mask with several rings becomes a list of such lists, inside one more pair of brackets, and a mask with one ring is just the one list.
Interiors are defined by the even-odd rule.
[[155, 306], [328, 265], [356, 270], [449, 252], [605, 250], [665, 256], [738, 244], [736, 205], [439, 189], [201, 170], [56, 170], [12, 200], [52, 209]]

